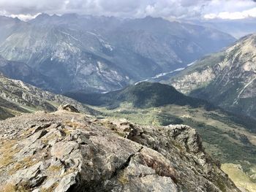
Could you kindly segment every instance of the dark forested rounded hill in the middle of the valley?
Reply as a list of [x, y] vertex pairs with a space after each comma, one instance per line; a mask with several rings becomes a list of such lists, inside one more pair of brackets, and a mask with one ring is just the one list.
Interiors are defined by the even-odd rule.
[[69, 92], [66, 96], [85, 104], [103, 107], [118, 107], [122, 102], [130, 102], [133, 107], [138, 108], [160, 107], [166, 104], [213, 107], [206, 101], [184, 96], [172, 86], [159, 82], [139, 82], [109, 93]]

